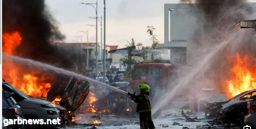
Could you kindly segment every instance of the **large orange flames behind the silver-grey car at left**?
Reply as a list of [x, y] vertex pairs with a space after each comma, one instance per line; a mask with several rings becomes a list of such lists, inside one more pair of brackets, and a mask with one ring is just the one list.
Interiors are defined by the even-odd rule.
[[[18, 32], [3, 34], [3, 52], [13, 55], [16, 48], [21, 44], [22, 37]], [[36, 69], [29, 71], [22, 64], [3, 59], [3, 78], [23, 93], [34, 97], [47, 97], [55, 76], [49, 73], [42, 73]], [[49, 82], [47, 82], [49, 81]]]

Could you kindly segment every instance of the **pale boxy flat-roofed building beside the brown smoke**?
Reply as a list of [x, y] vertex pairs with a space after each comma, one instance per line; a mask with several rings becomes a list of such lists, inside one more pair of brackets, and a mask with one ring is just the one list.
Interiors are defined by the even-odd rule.
[[187, 49], [191, 45], [189, 38], [198, 28], [198, 19], [195, 15], [200, 15], [200, 13], [202, 10], [197, 8], [195, 4], [164, 5], [164, 46], [171, 49], [171, 62], [177, 59], [183, 60], [184, 56], [189, 61], [189, 49]]

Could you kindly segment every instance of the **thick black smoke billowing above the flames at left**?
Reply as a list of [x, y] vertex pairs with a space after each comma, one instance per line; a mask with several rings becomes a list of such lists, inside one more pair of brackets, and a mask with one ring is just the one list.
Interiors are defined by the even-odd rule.
[[[3, 34], [18, 31], [22, 41], [16, 56], [70, 67], [70, 59], [53, 45], [65, 39], [44, 0], [3, 0]], [[5, 44], [5, 42], [3, 42]], [[4, 46], [4, 45], [3, 45]], [[71, 55], [71, 54], [69, 54]]]

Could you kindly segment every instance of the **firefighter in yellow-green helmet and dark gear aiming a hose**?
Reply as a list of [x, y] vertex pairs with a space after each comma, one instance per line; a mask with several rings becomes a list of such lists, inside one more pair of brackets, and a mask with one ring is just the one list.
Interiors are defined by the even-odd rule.
[[131, 95], [131, 99], [137, 104], [137, 113], [140, 114], [140, 129], [155, 129], [155, 125], [151, 118], [151, 106], [148, 98], [149, 86], [141, 84], [140, 95]]

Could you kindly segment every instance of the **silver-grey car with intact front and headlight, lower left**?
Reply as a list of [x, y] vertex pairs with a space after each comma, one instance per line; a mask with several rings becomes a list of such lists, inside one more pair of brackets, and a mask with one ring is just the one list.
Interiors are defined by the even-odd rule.
[[[13, 85], [2, 81], [3, 90], [13, 92], [13, 98], [21, 104], [22, 113], [25, 119], [60, 119], [60, 112], [57, 107], [49, 102], [41, 99], [30, 98]], [[36, 127], [36, 125], [27, 125], [28, 127]], [[49, 125], [50, 127], [59, 128], [59, 124]]]

